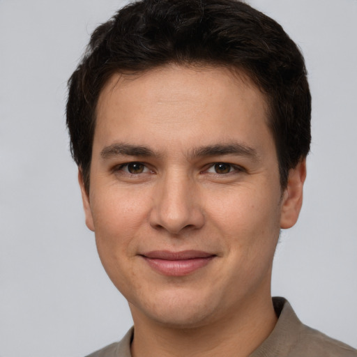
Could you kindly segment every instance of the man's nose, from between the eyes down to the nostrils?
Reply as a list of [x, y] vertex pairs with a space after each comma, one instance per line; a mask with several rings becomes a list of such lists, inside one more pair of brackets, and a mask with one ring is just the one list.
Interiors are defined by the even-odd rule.
[[187, 174], [167, 174], [155, 187], [149, 222], [155, 229], [178, 235], [204, 225], [199, 192]]

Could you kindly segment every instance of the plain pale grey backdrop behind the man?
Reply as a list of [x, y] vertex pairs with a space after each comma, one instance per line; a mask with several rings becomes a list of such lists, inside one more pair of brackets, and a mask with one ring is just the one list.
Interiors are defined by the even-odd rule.
[[[66, 81], [119, 0], [0, 0], [0, 356], [84, 356], [132, 324], [84, 225]], [[357, 347], [357, 1], [252, 0], [301, 47], [313, 97], [301, 218], [273, 295]]]

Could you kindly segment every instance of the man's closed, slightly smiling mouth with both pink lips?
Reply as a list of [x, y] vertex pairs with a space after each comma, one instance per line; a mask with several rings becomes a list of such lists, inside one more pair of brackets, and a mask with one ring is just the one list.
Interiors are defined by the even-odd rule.
[[185, 276], [209, 264], [216, 255], [200, 250], [155, 250], [141, 255], [153, 270], [167, 276]]

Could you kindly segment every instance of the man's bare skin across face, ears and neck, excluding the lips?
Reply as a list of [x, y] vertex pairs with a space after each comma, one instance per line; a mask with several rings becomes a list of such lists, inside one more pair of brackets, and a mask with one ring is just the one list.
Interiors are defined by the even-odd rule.
[[[130, 305], [133, 356], [248, 356], [273, 330], [273, 255], [298, 218], [305, 161], [282, 190], [266, 123], [264, 95], [227, 68], [170, 65], [114, 75], [102, 90], [89, 192], [80, 170], [79, 183], [102, 264]], [[137, 146], [151, 152], [129, 155]], [[245, 151], [207, 150], [217, 146]], [[213, 258], [169, 276], [144, 259], [153, 250]]]

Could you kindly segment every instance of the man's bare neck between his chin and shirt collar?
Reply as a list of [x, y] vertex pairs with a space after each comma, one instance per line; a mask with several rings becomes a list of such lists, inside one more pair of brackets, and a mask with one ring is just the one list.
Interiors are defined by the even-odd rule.
[[135, 326], [132, 357], [245, 357], [266, 340], [277, 321], [271, 298], [251, 300], [220, 319], [190, 328], [138, 318], [135, 307], [131, 309]]

